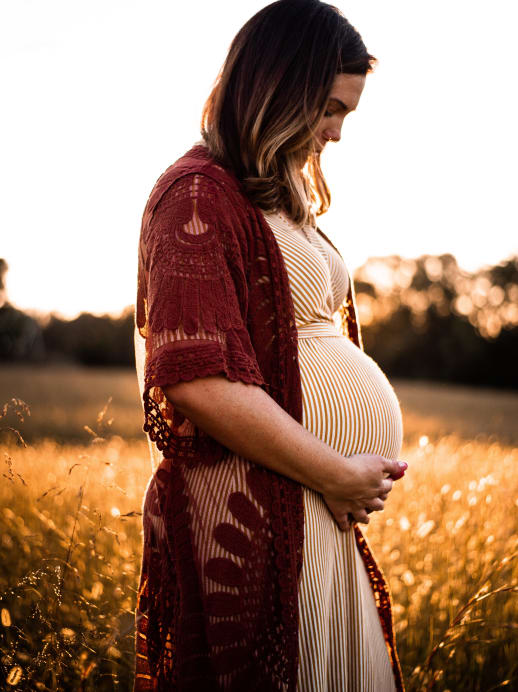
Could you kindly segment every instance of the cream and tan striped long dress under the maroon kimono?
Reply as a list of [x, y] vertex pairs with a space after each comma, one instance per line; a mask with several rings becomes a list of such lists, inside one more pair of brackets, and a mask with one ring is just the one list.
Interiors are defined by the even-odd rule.
[[[295, 306], [303, 425], [345, 456], [363, 452], [395, 459], [402, 443], [396, 395], [376, 363], [341, 334], [333, 319], [348, 290], [343, 260], [312, 227], [297, 227], [282, 214], [265, 218], [281, 249]], [[322, 496], [303, 490], [297, 689], [395, 690], [353, 531], [340, 531]]]

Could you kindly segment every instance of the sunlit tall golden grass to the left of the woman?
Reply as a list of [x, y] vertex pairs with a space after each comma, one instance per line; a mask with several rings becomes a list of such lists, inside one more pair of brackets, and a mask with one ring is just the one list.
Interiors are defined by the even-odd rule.
[[7, 445], [0, 688], [130, 690], [144, 442]]

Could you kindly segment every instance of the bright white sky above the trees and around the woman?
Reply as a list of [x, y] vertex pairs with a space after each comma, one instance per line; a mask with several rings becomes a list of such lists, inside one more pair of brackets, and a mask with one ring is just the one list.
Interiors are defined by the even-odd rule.
[[[12, 303], [134, 302], [158, 176], [199, 139], [229, 44], [267, 2], [1, 0], [0, 257]], [[323, 159], [320, 225], [351, 269], [518, 252], [515, 0], [337, 0], [379, 59]]]

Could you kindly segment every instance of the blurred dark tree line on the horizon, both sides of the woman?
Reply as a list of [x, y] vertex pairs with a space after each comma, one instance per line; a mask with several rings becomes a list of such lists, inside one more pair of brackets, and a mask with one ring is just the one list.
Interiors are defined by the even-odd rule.
[[[518, 388], [518, 257], [475, 273], [452, 255], [371, 258], [354, 279], [365, 350], [388, 376]], [[38, 322], [5, 300], [0, 360], [132, 367], [133, 329], [132, 307]]]

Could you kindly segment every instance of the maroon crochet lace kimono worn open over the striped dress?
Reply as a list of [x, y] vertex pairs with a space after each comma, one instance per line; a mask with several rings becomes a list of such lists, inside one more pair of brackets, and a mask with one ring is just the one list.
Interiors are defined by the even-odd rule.
[[[351, 290], [341, 313], [359, 345]], [[144, 501], [135, 691], [294, 692], [301, 486], [231, 454], [161, 389], [224, 374], [262, 387], [302, 421], [280, 249], [238, 180], [201, 145], [165, 171], [146, 205], [136, 323], [146, 344], [144, 430], [162, 460]], [[354, 531], [402, 689], [387, 586]]]

